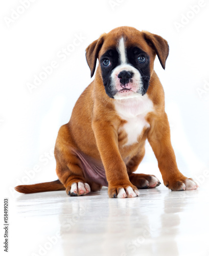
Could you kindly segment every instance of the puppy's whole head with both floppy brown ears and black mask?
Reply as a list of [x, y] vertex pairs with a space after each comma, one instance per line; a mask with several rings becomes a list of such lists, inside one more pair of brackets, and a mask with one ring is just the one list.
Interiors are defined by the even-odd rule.
[[161, 36], [131, 27], [119, 27], [100, 36], [86, 49], [86, 60], [94, 75], [97, 59], [106, 94], [114, 99], [144, 95], [157, 55], [165, 69], [169, 46]]

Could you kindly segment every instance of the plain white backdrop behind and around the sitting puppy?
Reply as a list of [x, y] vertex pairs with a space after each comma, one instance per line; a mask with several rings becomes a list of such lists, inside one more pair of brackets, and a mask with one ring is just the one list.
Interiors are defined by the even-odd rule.
[[[195, 178], [209, 169], [208, 1], [196, 9], [197, 13], [191, 12], [197, 0], [110, 2], [37, 0], [9, 25], [6, 19], [11, 18], [12, 9], [22, 11], [22, 4], [17, 0], [1, 2], [0, 164], [4, 197], [16, 197], [12, 187], [21, 182], [57, 178], [54, 156], [47, 154], [55, 145], [59, 127], [68, 122], [76, 100], [92, 80], [85, 49], [100, 34], [118, 26], [147, 30], [168, 40], [166, 70], [156, 58], [155, 71], [165, 89], [178, 167], [184, 175]], [[181, 23], [182, 15], [190, 18], [178, 31], [175, 23]], [[65, 60], [58, 57], [75, 35], [85, 39]], [[57, 61], [58, 67], [30, 93], [27, 83], [33, 83], [34, 76], [52, 61]], [[36, 165], [41, 170], [30, 172]], [[161, 179], [149, 145], [138, 172]], [[202, 183], [208, 184], [207, 179]]]

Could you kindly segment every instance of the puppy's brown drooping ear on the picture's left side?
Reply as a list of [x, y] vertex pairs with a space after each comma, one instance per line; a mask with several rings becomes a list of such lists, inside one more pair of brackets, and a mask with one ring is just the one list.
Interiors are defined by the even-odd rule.
[[91, 77], [95, 73], [97, 58], [99, 55], [99, 51], [103, 45], [104, 42], [104, 34], [100, 36], [99, 39], [95, 40], [94, 42], [91, 42], [91, 44], [86, 48], [86, 60], [88, 63], [88, 67], [91, 71]]

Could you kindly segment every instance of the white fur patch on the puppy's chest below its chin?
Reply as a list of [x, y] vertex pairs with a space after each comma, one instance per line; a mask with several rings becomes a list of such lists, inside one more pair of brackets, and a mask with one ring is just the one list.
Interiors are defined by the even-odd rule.
[[122, 127], [128, 136], [125, 145], [132, 145], [137, 142], [144, 127], [149, 127], [145, 117], [153, 111], [153, 103], [147, 94], [138, 95], [136, 98], [115, 100], [115, 110], [123, 120], [127, 121]]

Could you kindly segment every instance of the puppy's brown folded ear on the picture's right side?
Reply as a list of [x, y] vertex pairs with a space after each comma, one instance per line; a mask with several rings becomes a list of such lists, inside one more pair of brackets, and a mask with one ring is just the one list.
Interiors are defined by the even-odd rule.
[[169, 54], [168, 42], [159, 35], [152, 34], [147, 31], [143, 31], [144, 38], [149, 46], [151, 46], [156, 52], [159, 62], [163, 69], [166, 68], [166, 59]]

